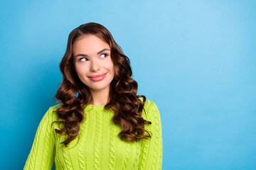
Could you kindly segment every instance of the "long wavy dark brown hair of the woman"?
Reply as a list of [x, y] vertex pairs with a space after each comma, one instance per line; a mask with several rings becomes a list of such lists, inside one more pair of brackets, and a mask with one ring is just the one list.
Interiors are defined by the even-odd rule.
[[[129, 58], [124, 55], [122, 48], [117, 45], [107, 28], [99, 23], [85, 23], [72, 30], [68, 36], [67, 50], [60, 62], [63, 80], [53, 97], [60, 103], [55, 112], [62, 120], [53, 123], [63, 124], [63, 128], [55, 129], [55, 132], [68, 135], [61, 144], [67, 147], [78, 136], [80, 124], [85, 118], [85, 107], [92, 101], [90, 90], [80, 81], [73, 64], [73, 44], [84, 35], [96, 35], [110, 45], [111, 59], [114, 62], [114, 79], [110, 84], [110, 100], [105, 105], [105, 109], [114, 111], [112, 120], [115, 125], [122, 128], [119, 137], [131, 142], [148, 139], [151, 135], [144, 129], [144, 125], [151, 124], [151, 122], [142, 118], [146, 97], [137, 95], [138, 84], [132, 79]], [[139, 99], [140, 97], [143, 101]], [[148, 135], [144, 135], [144, 132]]]

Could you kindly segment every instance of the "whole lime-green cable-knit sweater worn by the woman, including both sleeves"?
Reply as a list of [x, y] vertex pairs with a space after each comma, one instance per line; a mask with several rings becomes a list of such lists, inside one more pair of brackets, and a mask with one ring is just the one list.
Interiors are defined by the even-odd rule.
[[68, 148], [60, 144], [66, 136], [54, 131], [60, 129], [58, 123], [53, 123], [53, 128], [50, 127], [54, 120], [60, 120], [53, 112], [58, 106], [60, 104], [50, 107], [38, 125], [24, 169], [52, 169], [53, 162], [57, 170], [161, 169], [161, 119], [159, 109], [153, 101], [146, 99], [146, 114], [142, 112], [142, 117], [151, 121], [151, 125], [144, 125], [144, 128], [151, 132], [150, 140], [121, 140], [118, 134], [122, 128], [112, 122], [113, 111], [105, 110], [104, 106], [88, 105], [85, 108], [85, 121], [80, 125], [79, 135], [70, 142]]

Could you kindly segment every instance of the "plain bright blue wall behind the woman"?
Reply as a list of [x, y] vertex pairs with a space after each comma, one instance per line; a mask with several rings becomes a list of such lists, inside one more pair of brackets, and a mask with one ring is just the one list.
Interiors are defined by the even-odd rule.
[[96, 22], [161, 113], [163, 169], [256, 169], [255, 1], [1, 1], [1, 169], [23, 169], [62, 79], [68, 34]]

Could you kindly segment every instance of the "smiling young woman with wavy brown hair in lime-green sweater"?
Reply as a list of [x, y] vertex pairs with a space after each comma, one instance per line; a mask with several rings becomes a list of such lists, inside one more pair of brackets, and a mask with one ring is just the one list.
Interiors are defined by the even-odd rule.
[[55, 98], [24, 169], [161, 169], [159, 109], [137, 96], [129, 59], [107, 28], [85, 23], [68, 37]]

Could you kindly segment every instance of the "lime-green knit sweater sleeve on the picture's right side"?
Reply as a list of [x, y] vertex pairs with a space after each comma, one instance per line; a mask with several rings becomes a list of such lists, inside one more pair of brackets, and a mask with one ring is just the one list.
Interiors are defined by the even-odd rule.
[[159, 170], [162, 166], [163, 155], [161, 118], [159, 109], [153, 101], [149, 101], [145, 117], [144, 119], [151, 122], [151, 125], [144, 125], [144, 128], [151, 134], [151, 138], [142, 140], [139, 170]]

